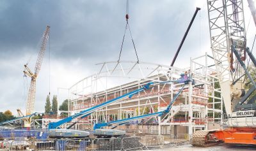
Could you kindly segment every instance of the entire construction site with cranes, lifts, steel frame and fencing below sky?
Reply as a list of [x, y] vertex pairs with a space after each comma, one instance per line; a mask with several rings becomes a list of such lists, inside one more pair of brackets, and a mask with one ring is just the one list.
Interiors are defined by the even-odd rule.
[[[26, 111], [0, 123], [0, 150], [256, 150], [256, 59], [253, 46], [246, 45], [244, 19], [249, 9], [256, 26], [255, 4], [202, 3], [207, 4], [209, 31], [204, 32], [209, 32], [211, 53], [189, 56], [189, 64], [180, 68], [175, 61], [201, 8], [191, 15], [172, 63], [157, 64], [138, 59], [127, 0], [118, 61], [97, 63], [97, 72], [65, 88], [68, 110], [52, 114], [35, 110], [47, 25], [35, 71], [24, 65], [24, 75], [31, 78]], [[120, 60], [125, 36], [132, 40], [136, 61]], [[33, 119], [37, 115], [42, 119]]]

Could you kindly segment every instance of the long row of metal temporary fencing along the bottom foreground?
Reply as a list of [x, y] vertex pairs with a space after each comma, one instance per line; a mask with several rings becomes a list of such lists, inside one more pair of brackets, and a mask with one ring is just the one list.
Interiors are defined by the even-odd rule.
[[131, 136], [123, 138], [83, 138], [83, 139], [36, 139], [0, 141], [2, 150], [142, 150], [160, 147], [163, 136]]

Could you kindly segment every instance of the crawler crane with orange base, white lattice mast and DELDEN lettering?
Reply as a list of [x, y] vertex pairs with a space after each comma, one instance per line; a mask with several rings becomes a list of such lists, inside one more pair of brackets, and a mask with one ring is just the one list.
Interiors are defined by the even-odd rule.
[[[256, 25], [254, 3], [248, 3]], [[256, 145], [256, 83], [248, 71], [248, 62], [255, 68], [256, 59], [246, 47], [243, 0], [207, 0], [207, 6], [212, 55], [227, 120], [222, 129], [195, 131], [192, 145]]]

